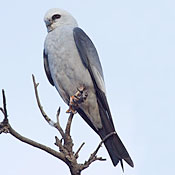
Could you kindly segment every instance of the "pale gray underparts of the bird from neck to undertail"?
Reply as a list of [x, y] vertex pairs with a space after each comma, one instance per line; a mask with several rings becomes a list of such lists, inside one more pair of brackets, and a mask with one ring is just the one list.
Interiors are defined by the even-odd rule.
[[80, 107], [98, 129], [102, 124], [95, 90], [90, 74], [76, 49], [73, 38], [74, 27], [77, 26], [63, 25], [49, 32], [45, 40], [45, 53], [48, 55], [54, 85], [67, 104], [77, 88], [84, 85], [88, 89], [88, 98]]

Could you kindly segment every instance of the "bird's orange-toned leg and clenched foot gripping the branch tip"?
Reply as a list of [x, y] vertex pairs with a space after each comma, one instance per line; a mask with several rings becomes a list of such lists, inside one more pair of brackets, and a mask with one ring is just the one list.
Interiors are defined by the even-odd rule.
[[88, 93], [84, 85], [80, 88], [77, 88], [77, 92], [70, 97], [69, 109], [66, 112], [75, 114], [77, 112], [76, 109], [79, 107], [79, 104], [83, 103], [86, 100], [87, 96]]

